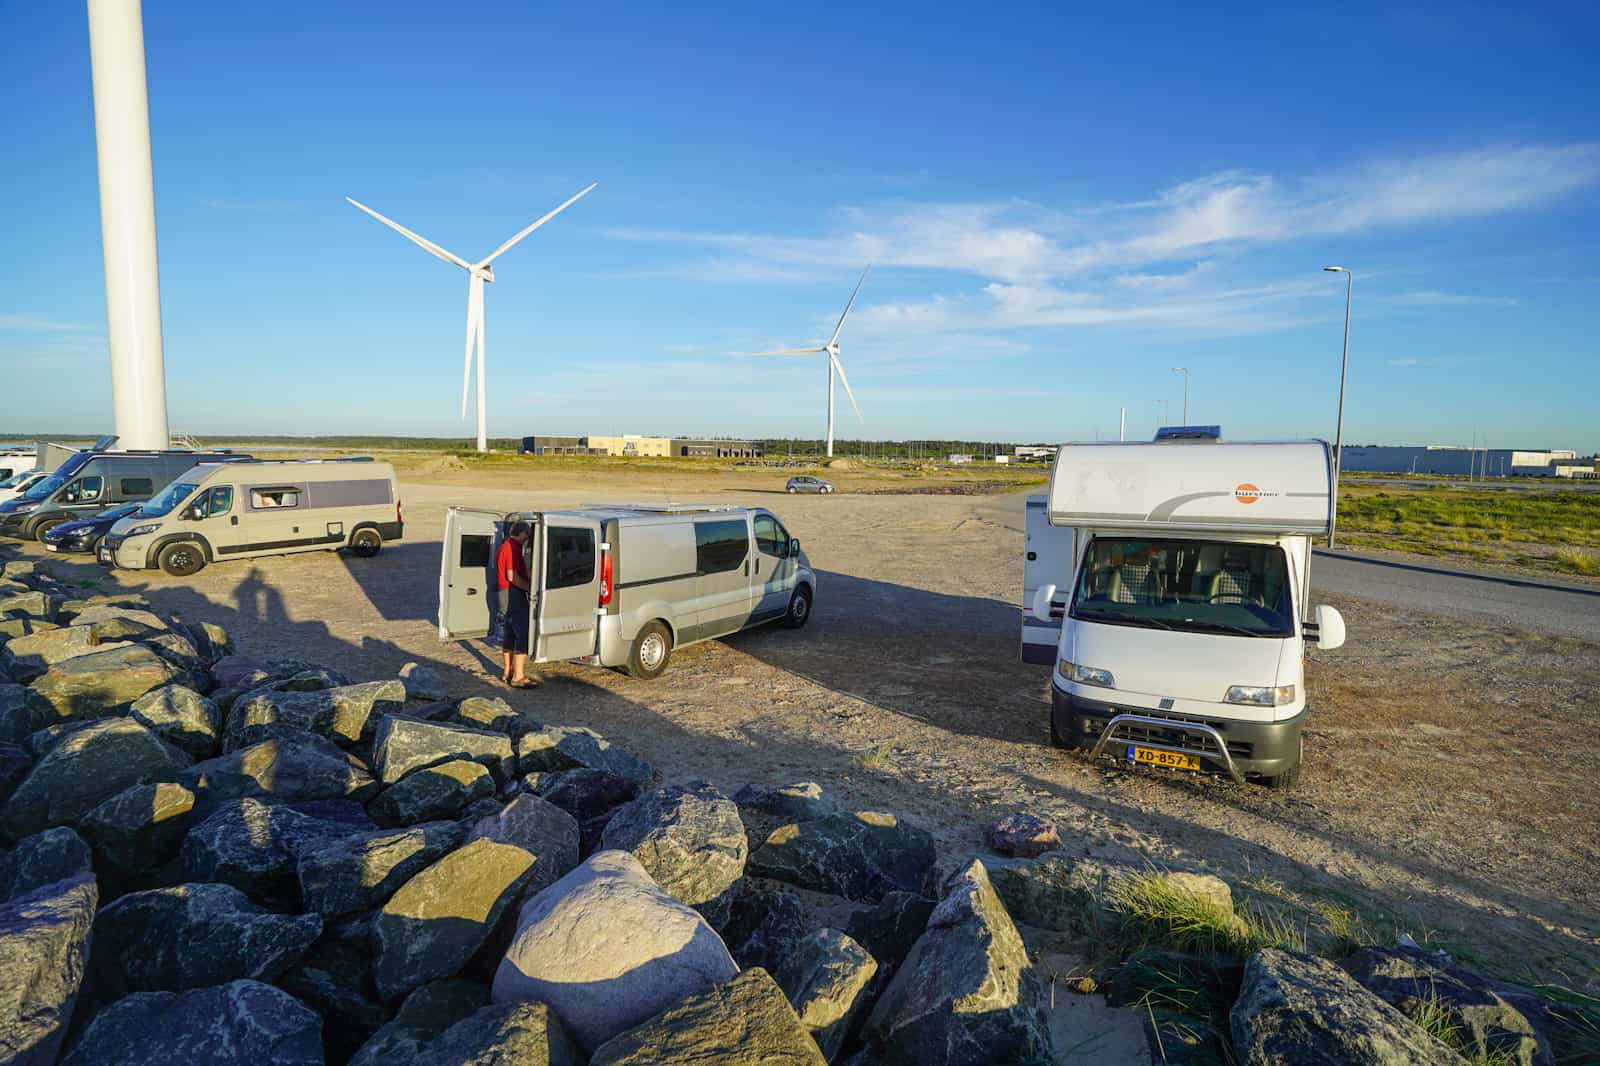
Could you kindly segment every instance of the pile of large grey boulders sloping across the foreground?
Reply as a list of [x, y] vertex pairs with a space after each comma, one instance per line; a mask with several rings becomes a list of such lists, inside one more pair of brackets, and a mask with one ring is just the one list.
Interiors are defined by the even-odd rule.
[[[941, 876], [814, 783], [664, 783], [422, 664], [256, 659], [0, 563], [3, 1063], [1048, 1063], [1018, 922], [1093, 927], [1118, 872], [1035, 820], [990, 840]], [[1550, 1061], [1533, 1007], [1426, 956], [1240, 983], [1240, 1061], [1459, 1061], [1408, 1018], [1424, 984]]]

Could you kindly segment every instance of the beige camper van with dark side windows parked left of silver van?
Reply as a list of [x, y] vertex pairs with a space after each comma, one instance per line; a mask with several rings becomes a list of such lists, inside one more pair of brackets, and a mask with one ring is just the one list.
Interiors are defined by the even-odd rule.
[[339, 547], [376, 555], [403, 535], [387, 463], [246, 456], [190, 467], [110, 528], [99, 560], [182, 578], [224, 559]]

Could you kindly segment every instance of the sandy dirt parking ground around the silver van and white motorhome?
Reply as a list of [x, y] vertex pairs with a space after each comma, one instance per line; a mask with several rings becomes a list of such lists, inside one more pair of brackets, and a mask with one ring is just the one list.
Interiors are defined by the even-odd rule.
[[[1298, 791], [1096, 767], [1050, 747], [1048, 672], [1018, 656], [1021, 496], [786, 496], [786, 477], [595, 466], [530, 480], [435, 461], [402, 469], [406, 539], [376, 559], [242, 560], [190, 579], [56, 568], [221, 623], [251, 655], [363, 679], [429, 663], [458, 695], [594, 727], [669, 779], [814, 779], [926, 826], [950, 864], [990, 820], [1030, 810], [1085, 855], [1269, 879], [1355, 908], [1382, 941], [1405, 932], [1512, 980], [1600, 988], [1600, 645], [1328, 597], [1350, 635], [1314, 653]], [[664, 498], [776, 511], [821, 575], [811, 624], [685, 648], [656, 682], [539, 667], [531, 691], [504, 688], [482, 643], [438, 640], [446, 506]]]

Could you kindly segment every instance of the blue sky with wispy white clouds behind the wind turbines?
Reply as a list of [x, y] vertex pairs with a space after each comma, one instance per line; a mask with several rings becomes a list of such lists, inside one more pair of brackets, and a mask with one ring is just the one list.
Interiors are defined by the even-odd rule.
[[[1600, 448], [1589, 5], [146, 0], [174, 431]], [[110, 424], [78, 2], [0, 3], [0, 427]], [[26, 387], [10, 387], [26, 384]]]

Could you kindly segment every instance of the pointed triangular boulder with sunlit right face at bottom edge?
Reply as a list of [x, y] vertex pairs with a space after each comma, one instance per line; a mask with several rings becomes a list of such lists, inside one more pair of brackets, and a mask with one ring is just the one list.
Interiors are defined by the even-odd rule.
[[898, 1066], [1050, 1058], [1038, 978], [982, 863], [950, 879], [867, 1032]]

